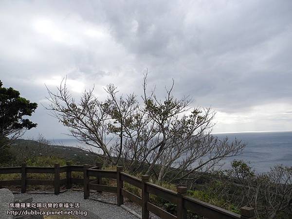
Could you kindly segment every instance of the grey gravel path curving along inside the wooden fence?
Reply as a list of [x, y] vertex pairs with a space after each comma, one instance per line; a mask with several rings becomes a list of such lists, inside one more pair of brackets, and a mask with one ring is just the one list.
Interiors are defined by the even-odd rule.
[[[59, 195], [54, 194], [14, 194], [16, 199], [22, 200], [32, 197], [33, 202], [78, 202], [80, 203], [79, 210], [88, 211], [87, 217], [79, 217], [80, 219], [137, 219], [117, 205], [103, 203], [94, 200], [83, 199], [83, 192], [68, 190]], [[77, 209], [77, 210], [78, 210]], [[69, 209], [70, 210], [70, 209]]]

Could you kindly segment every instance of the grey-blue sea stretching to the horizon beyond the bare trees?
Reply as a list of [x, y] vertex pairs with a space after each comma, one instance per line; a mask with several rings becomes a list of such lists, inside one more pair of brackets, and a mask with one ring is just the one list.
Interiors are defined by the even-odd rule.
[[[228, 137], [230, 141], [237, 138], [246, 147], [242, 154], [225, 159], [223, 168], [228, 168], [234, 159], [250, 162], [257, 172], [266, 172], [276, 164], [292, 166], [292, 132], [241, 132], [214, 134], [219, 139]], [[53, 145], [79, 146], [88, 148], [78, 143], [75, 139], [50, 140]], [[94, 148], [91, 150], [96, 151]]]

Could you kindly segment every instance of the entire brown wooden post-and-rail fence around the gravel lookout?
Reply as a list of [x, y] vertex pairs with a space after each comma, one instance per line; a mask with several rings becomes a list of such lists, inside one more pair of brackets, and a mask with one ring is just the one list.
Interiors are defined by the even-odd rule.
[[[71, 172], [83, 172], [83, 179], [72, 178]], [[66, 172], [66, 178], [60, 179], [60, 173]], [[124, 204], [124, 197], [139, 204], [142, 207], [142, 219], [149, 219], [149, 212], [161, 217], [162, 219], [186, 219], [187, 211], [204, 216], [208, 219], [255, 219], [254, 209], [250, 207], [240, 208], [241, 215], [219, 208], [212, 204], [186, 196], [187, 188], [177, 187], [177, 192], [164, 187], [149, 183], [149, 176], [144, 175], [142, 179], [131, 176], [123, 172], [123, 167], [117, 166], [117, 170], [102, 170], [101, 163], [95, 166], [90, 165], [71, 165], [67, 162], [65, 166], [55, 164], [55, 167], [30, 167], [22, 164], [19, 167], [1, 167], [0, 174], [21, 173], [20, 180], [0, 181], [0, 185], [20, 185], [21, 193], [26, 192], [27, 185], [52, 185], [55, 194], [60, 193], [60, 186], [66, 185], [71, 188], [72, 183], [83, 184], [84, 199], [90, 197], [90, 190], [97, 192], [111, 192], [117, 194], [117, 204]], [[51, 173], [54, 180], [32, 180], [27, 179], [27, 173]], [[90, 179], [94, 177], [94, 179]], [[101, 184], [101, 178], [116, 179], [117, 186]], [[141, 197], [127, 191], [124, 182], [141, 189]], [[177, 214], [173, 215], [164, 209], [154, 205], [149, 201], [149, 194], [156, 195], [177, 206]]]

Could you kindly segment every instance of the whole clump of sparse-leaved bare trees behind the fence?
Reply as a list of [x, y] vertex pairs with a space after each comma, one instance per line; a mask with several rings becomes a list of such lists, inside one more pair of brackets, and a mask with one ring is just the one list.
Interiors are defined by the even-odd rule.
[[[219, 141], [210, 135], [214, 111], [191, 108], [188, 97], [175, 98], [174, 81], [160, 100], [155, 89], [147, 93], [146, 78], [147, 74], [141, 103], [135, 94], [118, 95], [114, 85], [106, 87], [104, 101], [97, 100], [91, 89], [76, 102], [63, 80], [57, 93], [48, 89], [51, 104], [46, 108], [73, 137], [100, 149], [97, 155], [110, 164], [123, 162], [128, 170], [154, 174], [158, 181], [165, 180], [175, 166], [180, 170], [174, 179], [182, 180], [240, 152], [244, 146], [240, 142]], [[161, 165], [158, 172], [157, 164]]]

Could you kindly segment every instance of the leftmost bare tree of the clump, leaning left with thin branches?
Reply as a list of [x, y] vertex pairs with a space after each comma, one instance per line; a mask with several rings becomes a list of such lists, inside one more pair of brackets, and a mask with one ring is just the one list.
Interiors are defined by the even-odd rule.
[[80, 102], [76, 103], [68, 91], [66, 79], [62, 80], [57, 93], [51, 92], [48, 88], [47, 90], [51, 104], [46, 109], [51, 110], [52, 115], [69, 128], [71, 136], [100, 149], [102, 154], [98, 155], [113, 163], [106, 140], [107, 121], [110, 119], [107, 111], [110, 103], [98, 101], [92, 93], [93, 89], [84, 91]]

